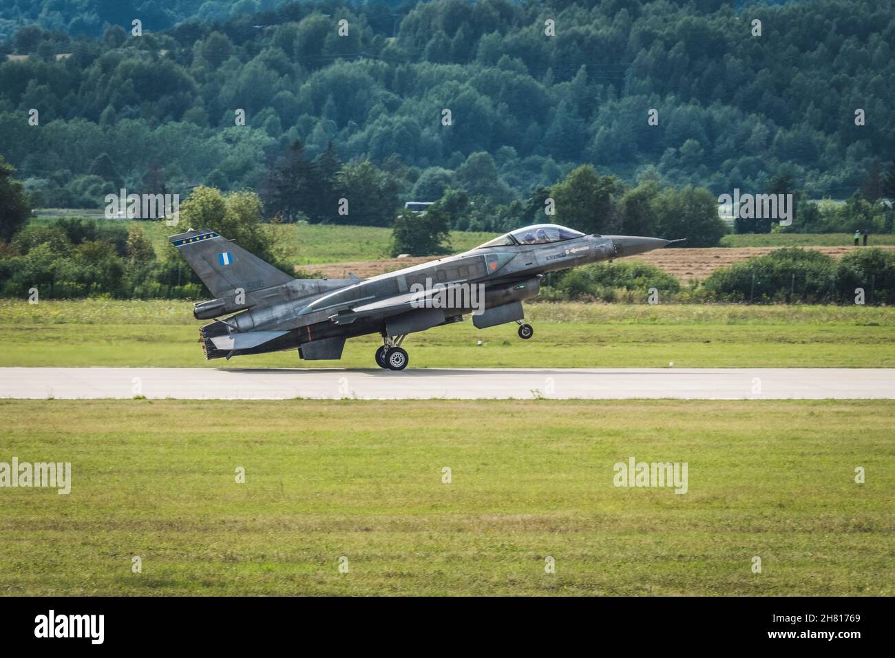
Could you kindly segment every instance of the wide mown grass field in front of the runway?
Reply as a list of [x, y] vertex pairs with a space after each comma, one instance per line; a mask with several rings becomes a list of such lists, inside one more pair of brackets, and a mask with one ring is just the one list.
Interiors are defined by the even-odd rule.
[[895, 594], [891, 401], [0, 410], [0, 461], [72, 464], [0, 490], [0, 594]]

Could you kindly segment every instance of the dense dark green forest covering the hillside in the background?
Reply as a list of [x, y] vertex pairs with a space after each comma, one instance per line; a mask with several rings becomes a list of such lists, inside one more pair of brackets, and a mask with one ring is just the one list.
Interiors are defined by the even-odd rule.
[[198, 184], [268, 206], [277, 171], [301, 169], [297, 142], [309, 165], [350, 163], [396, 203], [456, 189], [503, 205], [583, 164], [630, 187], [764, 192], [784, 176], [805, 199], [862, 190], [872, 203], [895, 155], [885, 0], [13, 0], [0, 17], [0, 154], [32, 206], [100, 208], [120, 186], [185, 198]]

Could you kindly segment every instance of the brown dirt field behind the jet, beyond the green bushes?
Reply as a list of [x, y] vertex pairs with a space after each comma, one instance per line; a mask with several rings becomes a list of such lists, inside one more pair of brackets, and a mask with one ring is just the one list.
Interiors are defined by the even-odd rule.
[[[738, 261], [745, 261], [751, 256], [760, 256], [772, 252], [780, 247], [711, 247], [708, 249], [661, 249], [658, 252], [644, 253], [639, 256], [631, 256], [631, 261], [644, 261], [652, 263], [681, 281], [691, 279], [703, 279], [712, 271], [720, 267], [727, 267]], [[834, 258], [848, 253], [855, 247], [805, 247], [826, 253]], [[859, 247], [861, 248], [861, 247]], [[895, 246], [883, 246], [882, 249], [895, 250]], [[373, 277], [395, 269], [402, 269], [431, 261], [434, 256], [422, 256], [413, 258], [392, 258], [384, 261], [357, 261], [344, 263], [330, 263], [325, 265], [311, 265], [306, 269], [319, 271], [326, 278], [348, 278], [354, 274], [358, 278]]]

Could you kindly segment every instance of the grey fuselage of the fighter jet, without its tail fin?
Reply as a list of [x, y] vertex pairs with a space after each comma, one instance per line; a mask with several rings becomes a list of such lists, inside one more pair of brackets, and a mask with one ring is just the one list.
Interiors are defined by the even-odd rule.
[[[526, 226], [468, 252], [376, 277], [296, 279], [251, 292], [243, 302], [244, 310], [206, 325], [201, 335], [209, 358], [303, 346], [307, 348], [303, 355], [314, 349], [323, 354], [305, 358], [330, 358], [331, 351], [341, 354], [341, 346], [332, 347], [326, 341], [371, 333], [383, 338], [402, 336], [463, 320], [471, 313], [480, 328], [521, 321], [521, 302], [539, 294], [544, 274], [668, 243], [649, 237], [584, 235], [550, 224]], [[443, 295], [450, 304], [419, 303], [431, 302], [433, 290], [461, 289], [470, 293]], [[228, 299], [218, 299], [197, 304], [196, 315], [217, 315], [222, 304], [226, 310], [238, 310]]]

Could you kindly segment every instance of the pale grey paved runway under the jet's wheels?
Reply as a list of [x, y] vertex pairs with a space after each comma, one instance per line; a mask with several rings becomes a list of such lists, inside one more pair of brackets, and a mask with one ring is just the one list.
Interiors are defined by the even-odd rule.
[[895, 398], [895, 369], [0, 368], [0, 397]]

